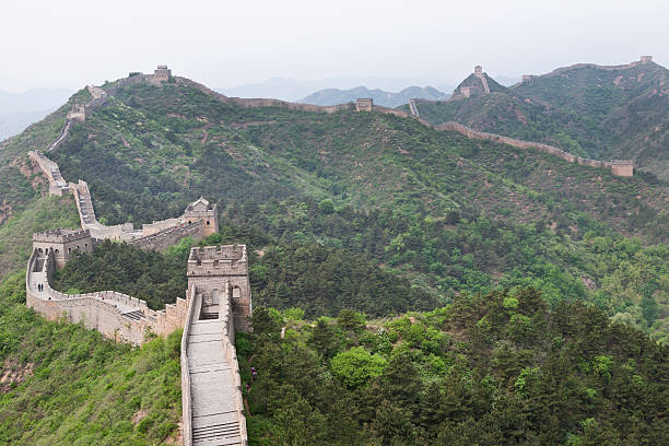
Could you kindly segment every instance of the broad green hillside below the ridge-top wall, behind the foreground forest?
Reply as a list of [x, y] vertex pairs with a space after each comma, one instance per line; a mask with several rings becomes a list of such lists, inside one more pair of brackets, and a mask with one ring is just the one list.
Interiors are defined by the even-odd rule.
[[[363, 255], [442, 302], [535, 284], [665, 336], [667, 248], [644, 246], [667, 240], [669, 189], [643, 177], [413, 119], [245, 108], [179, 84], [122, 89], [54, 160], [89, 181], [108, 223], [206, 196], [236, 227]], [[634, 258], [648, 265], [641, 277]], [[281, 294], [290, 281], [270, 283]]]

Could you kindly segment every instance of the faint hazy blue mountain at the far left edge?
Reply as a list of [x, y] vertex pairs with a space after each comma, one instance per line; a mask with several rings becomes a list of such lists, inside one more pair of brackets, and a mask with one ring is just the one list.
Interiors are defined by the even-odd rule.
[[22, 93], [0, 90], [0, 141], [40, 120], [72, 93], [70, 89], [31, 89]]

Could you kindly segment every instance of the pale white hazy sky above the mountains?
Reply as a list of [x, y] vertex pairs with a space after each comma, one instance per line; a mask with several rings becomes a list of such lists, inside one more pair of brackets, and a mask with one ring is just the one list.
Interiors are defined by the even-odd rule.
[[[457, 83], [576, 62], [669, 66], [667, 0], [0, 0], [0, 90], [151, 72], [212, 87], [272, 77]], [[374, 85], [369, 85], [374, 86]]]

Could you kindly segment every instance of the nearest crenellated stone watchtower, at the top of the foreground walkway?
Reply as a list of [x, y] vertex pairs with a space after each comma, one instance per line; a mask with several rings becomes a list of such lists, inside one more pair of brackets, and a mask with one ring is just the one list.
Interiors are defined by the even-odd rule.
[[[246, 245], [195, 247], [188, 257], [188, 292], [201, 296], [198, 319], [232, 316], [236, 330], [249, 330], [250, 283]], [[188, 296], [192, 298], [193, 296]], [[221, 315], [223, 300], [230, 300], [232, 315]]]

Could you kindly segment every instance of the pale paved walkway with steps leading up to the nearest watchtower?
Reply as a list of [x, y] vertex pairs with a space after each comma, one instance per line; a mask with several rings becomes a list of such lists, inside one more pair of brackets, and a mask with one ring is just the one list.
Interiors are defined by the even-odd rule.
[[237, 388], [227, 363], [221, 319], [193, 320], [188, 336], [192, 408], [192, 444], [242, 445], [235, 398]]

